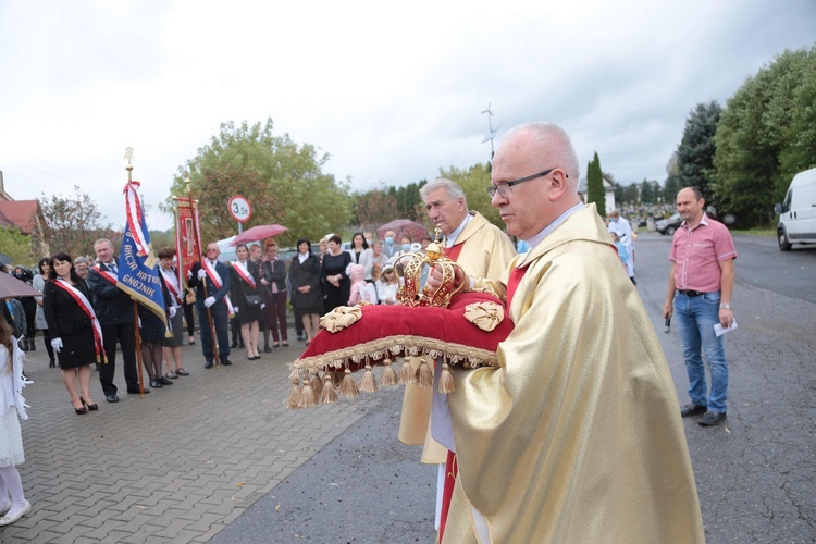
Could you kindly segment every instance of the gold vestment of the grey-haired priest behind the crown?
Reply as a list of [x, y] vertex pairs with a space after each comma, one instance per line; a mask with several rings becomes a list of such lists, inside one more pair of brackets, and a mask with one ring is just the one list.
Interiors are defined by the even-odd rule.
[[[484, 215], [475, 211], [470, 213], [472, 219], [456, 238], [457, 245], [465, 244], [456, 262], [472, 277], [498, 280], [507, 272], [516, 249], [507, 234]], [[419, 364], [419, 358], [413, 358], [411, 364]], [[424, 444], [422, 462], [443, 463], [447, 449], [431, 437], [429, 425], [432, 393], [432, 390], [419, 385], [405, 386], [398, 437], [412, 446]]]

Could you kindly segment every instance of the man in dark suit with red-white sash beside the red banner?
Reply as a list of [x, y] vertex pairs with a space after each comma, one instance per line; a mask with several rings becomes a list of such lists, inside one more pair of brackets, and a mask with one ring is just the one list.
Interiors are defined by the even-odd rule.
[[[196, 262], [190, 269], [187, 286], [196, 289], [196, 308], [198, 309], [198, 322], [201, 324], [201, 351], [203, 353], [206, 369], [212, 368], [214, 351], [212, 349], [212, 329], [207, 314], [210, 310], [212, 324], [215, 327], [218, 339], [218, 355], [221, 364], [232, 364], [230, 361], [230, 339], [227, 336], [227, 321], [230, 309], [226, 298], [230, 293], [230, 269], [226, 264], [219, 262], [221, 250], [218, 244], [207, 245], [207, 257], [202, 262]], [[205, 296], [205, 284], [207, 296]]]

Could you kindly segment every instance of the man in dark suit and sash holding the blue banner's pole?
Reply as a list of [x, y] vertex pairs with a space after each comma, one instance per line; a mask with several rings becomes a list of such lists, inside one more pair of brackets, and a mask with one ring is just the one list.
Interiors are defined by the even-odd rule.
[[[122, 348], [127, 393], [139, 394], [139, 375], [136, 369], [136, 324], [133, 319], [133, 300], [124, 290], [116, 287], [119, 263], [113, 257], [113, 244], [108, 238], [94, 243], [94, 251], [99, 262], [95, 264], [86, 282], [94, 295], [94, 309], [102, 329], [102, 343], [108, 356], [108, 364], [99, 366], [99, 382], [104, 398], [119, 403], [113, 376], [116, 370], [116, 343]], [[145, 387], [145, 393], [150, 390]]]

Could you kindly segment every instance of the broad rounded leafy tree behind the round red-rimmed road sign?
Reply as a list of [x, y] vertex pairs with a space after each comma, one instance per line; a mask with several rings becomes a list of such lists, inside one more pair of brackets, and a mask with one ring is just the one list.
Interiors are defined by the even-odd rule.
[[[180, 166], [171, 194], [186, 196], [184, 178], [189, 175], [194, 198], [199, 200], [201, 242], [225, 238], [237, 232], [228, 215], [227, 201], [245, 196], [252, 217], [246, 227], [280, 223], [288, 232], [279, 236], [282, 245], [307, 236], [318, 239], [327, 232], [341, 232], [350, 219], [348, 183], [322, 172], [329, 154], [309, 145], [298, 145], [288, 134], [273, 135], [272, 119], [265, 124], [236, 126], [232, 121], [198, 154]], [[162, 209], [172, 210], [168, 199]]]

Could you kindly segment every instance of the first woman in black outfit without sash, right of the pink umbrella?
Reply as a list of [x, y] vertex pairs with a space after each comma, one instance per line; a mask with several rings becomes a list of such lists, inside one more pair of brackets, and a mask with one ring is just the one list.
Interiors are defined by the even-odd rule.
[[306, 344], [311, 342], [320, 329], [320, 314], [323, 311], [320, 259], [312, 255], [307, 238], [297, 240], [297, 255], [289, 263], [292, 305], [302, 316]]

